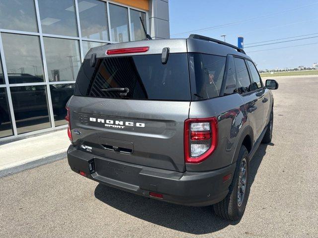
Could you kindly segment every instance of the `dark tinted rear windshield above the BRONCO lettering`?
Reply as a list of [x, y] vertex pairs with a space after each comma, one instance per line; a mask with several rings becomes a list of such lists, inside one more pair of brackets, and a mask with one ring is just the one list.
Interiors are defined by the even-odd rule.
[[[107, 91], [110, 88], [129, 91], [123, 96], [123, 91]], [[90, 60], [84, 60], [75, 95], [190, 101], [187, 54], [170, 54], [166, 64], [161, 63], [161, 55], [97, 59], [95, 67], [90, 66]]]

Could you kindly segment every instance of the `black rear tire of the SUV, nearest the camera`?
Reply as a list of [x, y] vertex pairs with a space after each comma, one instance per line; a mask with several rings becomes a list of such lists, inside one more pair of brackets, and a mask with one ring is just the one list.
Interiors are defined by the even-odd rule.
[[[245, 166], [245, 173], [241, 175], [241, 166]], [[238, 195], [239, 180], [245, 178], [245, 187], [243, 196], [240, 193], [240, 199]], [[240, 183], [241, 184], [241, 183]], [[242, 191], [240, 189], [240, 191]], [[232, 183], [229, 187], [229, 193], [221, 202], [214, 204], [213, 209], [216, 215], [219, 217], [236, 221], [239, 220], [245, 211], [247, 199], [249, 195], [249, 157], [248, 151], [245, 146], [241, 146], [239, 150], [239, 157], [237, 160], [237, 166], [235, 169]]]

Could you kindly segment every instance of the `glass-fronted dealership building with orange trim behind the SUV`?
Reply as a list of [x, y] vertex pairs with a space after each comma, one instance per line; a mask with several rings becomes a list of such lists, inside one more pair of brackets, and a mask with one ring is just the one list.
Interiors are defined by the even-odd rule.
[[0, 0], [0, 141], [66, 127], [86, 52], [169, 38], [168, 0]]

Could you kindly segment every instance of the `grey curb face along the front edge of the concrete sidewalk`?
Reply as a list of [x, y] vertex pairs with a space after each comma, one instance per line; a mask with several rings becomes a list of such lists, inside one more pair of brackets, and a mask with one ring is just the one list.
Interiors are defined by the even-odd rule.
[[22, 165], [18, 165], [18, 166], [14, 166], [11, 168], [7, 168], [4, 170], [0, 170], [0, 178], [4, 178], [10, 175], [14, 175], [17, 173], [20, 173], [24, 170], [29, 170], [29, 169], [33, 169], [35, 167], [39, 167], [41, 165], [46, 165], [58, 160], [62, 160], [65, 159], [67, 157], [66, 155], [66, 151], [56, 154], [56, 155], [51, 155], [51, 156], [47, 156], [47, 157], [43, 157], [41, 159], [38, 160], [34, 160], [34, 161], [30, 161], [28, 163], [22, 164]]

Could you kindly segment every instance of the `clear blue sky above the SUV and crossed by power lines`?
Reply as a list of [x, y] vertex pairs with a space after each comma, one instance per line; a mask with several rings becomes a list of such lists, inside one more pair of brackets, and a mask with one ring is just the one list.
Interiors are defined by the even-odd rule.
[[[226, 41], [237, 46], [238, 36], [243, 36], [244, 50], [258, 69], [312, 66], [318, 61], [318, 0], [169, 0], [169, 20], [171, 38], [198, 33], [222, 40], [220, 36], [227, 35]], [[253, 46], [249, 43], [301, 35], [309, 36], [286, 40], [315, 38], [247, 48]], [[303, 44], [311, 45], [297, 46]], [[263, 51], [289, 46], [295, 47]]]

